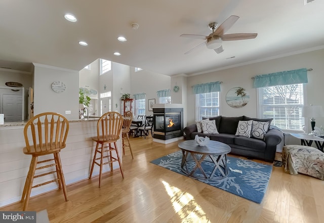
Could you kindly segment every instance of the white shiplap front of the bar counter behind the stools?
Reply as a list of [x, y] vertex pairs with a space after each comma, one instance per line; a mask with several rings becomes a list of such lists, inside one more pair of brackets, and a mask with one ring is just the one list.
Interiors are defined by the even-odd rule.
[[[66, 148], [60, 156], [66, 185], [86, 180], [89, 177], [95, 143], [91, 140], [97, 136], [97, 121], [99, 118], [79, 119], [69, 121], [69, 133]], [[26, 122], [12, 122], [0, 125], [0, 207], [20, 201], [31, 156], [23, 153], [25, 147], [24, 126]], [[121, 156], [121, 141], [117, 141]], [[45, 157], [44, 157], [45, 158]], [[113, 169], [119, 168], [113, 164]], [[110, 171], [105, 165], [103, 172]], [[119, 173], [119, 171], [117, 171]], [[95, 166], [94, 175], [99, 174], [99, 166]], [[51, 175], [44, 176], [46, 179]], [[104, 175], [103, 175], [104, 177]], [[41, 177], [39, 177], [41, 178]], [[41, 179], [35, 179], [34, 182]], [[96, 180], [96, 179], [95, 179]], [[54, 190], [57, 183], [51, 183], [31, 190], [31, 197]], [[64, 197], [62, 197], [64, 201]]]

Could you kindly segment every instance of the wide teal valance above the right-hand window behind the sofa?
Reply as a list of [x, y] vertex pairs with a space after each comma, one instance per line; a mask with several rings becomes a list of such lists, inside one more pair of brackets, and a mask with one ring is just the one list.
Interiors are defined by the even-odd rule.
[[265, 86], [290, 85], [307, 82], [307, 69], [302, 68], [298, 70], [257, 75], [254, 77], [253, 87], [258, 88]]

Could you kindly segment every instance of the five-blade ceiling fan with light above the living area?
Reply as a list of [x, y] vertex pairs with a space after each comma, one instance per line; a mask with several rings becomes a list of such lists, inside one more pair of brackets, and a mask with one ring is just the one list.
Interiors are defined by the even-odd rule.
[[192, 48], [187, 51], [185, 54], [190, 53], [193, 49], [203, 46], [206, 44], [208, 49], [214, 50], [216, 53], [222, 53], [223, 41], [231, 41], [231, 40], [241, 40], [241, 39], [254, 39], [257, 37], [258, 33], [232, 33], [232, 34], [224, 34], [234, 23], [239, 19], [238, 16], [230, 16], [226, 19], [219, 27], [217, 22], [212, 22], [209, 24], [210, 29], [213, 31], [208, 36], [206, 35], [195, 35], [195, 34], [182, 34], [181, 37], [194, 38], [194, 39], [206, 39], [205, 42], [200, 43], [198, 46]]

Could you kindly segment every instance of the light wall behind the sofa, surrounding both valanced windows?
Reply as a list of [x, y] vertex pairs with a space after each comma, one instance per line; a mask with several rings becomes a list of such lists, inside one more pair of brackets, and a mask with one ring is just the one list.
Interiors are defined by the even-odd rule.
[[[324, 106], [324, 50], [317, 50], [308, 53], [302, 53], [293, 56], [287, 56], [279, 59], [244, 65], [221, 71], [201, 74], [188, 77], [188, 123], [194, 123], [194, 94], [191, 86], [199, 83], [212, 81], [223, 81], [220, 92], [220, 113], [223, 116], [240, 116], [257, 117], [257, 94], [256, 89], [252, 88], [253, 80], [251, 77], [260, 74], [273, 73], [278, 71], [294, 70], [300, 68], [312, 68], [308, 72], [308, 83], [305, 86], [305, 105], [322, 105]], [[226, 103], [226, 94], [233, 87], [244, 87], [250, 94], [250, 102], [242, 108], [232, 108]], [[309, 121], [308, 128], [310, 129]], [[316, 126], [324, 126], [324, 118], [316, 118]], [[186, 126], [186, 123], [185, 123]]]

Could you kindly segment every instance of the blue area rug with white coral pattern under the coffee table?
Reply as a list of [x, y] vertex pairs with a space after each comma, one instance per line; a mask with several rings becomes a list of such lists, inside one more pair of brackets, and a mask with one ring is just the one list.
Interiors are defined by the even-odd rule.
[[[156, 165], [165, 167], [177, 173], [186, 175], [182, 172], [181, 166], [182, 152], [177, 151], [167, 156], [160, 157], [151, 161]], [[208, 157], [201, 165], [207, 174], [210, 174], [213, 170], [211, 159]], [[187, 163], [188, 167], [194, 167], [194, 161]], [[191, 165], [191, 166], [190, 166]], [[238, 195], [242, 198], [246, 198], [256, 203], [261, 203], [265, 192], [267, 191], [272, 165], [257, 163], [251, 160], [244, 160], [235, 157], [227, 156], [227, 167], [229, 174], [227, 177], [221, 180], [198, 180], [204, 182], [216, 188]], [[199, 174], [199, 169], [195, 174]], [[219, 171], [216, 171], [215, 176], [220, 175]], [[203, 174], [201, 174], [203, 177]]]

